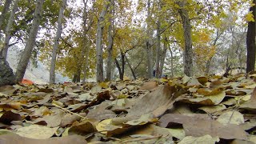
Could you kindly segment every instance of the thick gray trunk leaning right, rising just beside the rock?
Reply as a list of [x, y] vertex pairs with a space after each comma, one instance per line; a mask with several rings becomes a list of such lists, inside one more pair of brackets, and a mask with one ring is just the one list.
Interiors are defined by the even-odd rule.
[[18, 62], [18, 67], [16, 70], [16, 81], [21, 82], [24, 74], [26, 72], [26, 66], [30, 61], [30, 56], [32, 54], [32, 50], [35, 43], [35, 38], [38, 34], [38, 28], [40, 24], [40, 20], [42, 18], [42, 4], [44, 0], [37, 0], [36, 8], [34, 11], [34, 20], [30, 30], [29, 38], [26, 41], [25, 50], [22, 53], [22, 58]]

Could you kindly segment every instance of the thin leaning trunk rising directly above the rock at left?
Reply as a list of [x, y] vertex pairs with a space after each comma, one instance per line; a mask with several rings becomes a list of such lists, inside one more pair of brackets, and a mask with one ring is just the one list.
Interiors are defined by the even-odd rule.
[[6, 38], [5, 38], [5, 42], [4, 42], [4, 46], [2, 48], [2, 57], [3, 58], [7, 58], [7, 52], [8, 52], [8, 48], [9, 48], [9, 41], [10, 41], [10, 30], [11, 30], [11, 27], [14, 23], [14, 15], [15, 15], [15, 12], [18, 10], [18, 1], [19, 0], [15, 0], [14, 1], [14, 6], [13, 6], [13, 10], [11, 11], [10, 13], [10, 17], [9, 17], [9, 20], [8, 20], [8, 23], [7, 23], [7, 26], [6, 26]]

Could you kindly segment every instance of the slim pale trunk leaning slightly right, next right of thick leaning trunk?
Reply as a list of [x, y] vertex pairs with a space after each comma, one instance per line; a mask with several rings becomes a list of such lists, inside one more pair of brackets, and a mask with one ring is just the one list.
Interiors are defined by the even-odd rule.
[[63, 0], [62, 7], [60, 8], [58, 13], [58, 29], [56, 32], [56, 37], [54, 39], [53, 54], [50, 61], [50, 83], [55, 83], [55, 65], [56, 65], [56, 58], [57, 58], [58, 41], [59, 41], [59, 38], [61, 38], [61, 34], [62, 34], [62, 20], [63, 20], [63, 14], [64, 14], [65, 8], [66, 8], [66, 0]]

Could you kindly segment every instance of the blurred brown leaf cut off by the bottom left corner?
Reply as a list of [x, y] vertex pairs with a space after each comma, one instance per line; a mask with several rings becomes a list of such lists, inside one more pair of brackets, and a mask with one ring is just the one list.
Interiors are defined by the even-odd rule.
[[61, 138], [48, 138], [48, 139], [32, 139], [32, 138], [26, 138], [21, 137], [18, 134], [4, 134], [0, 135], [0, 143], [1, 144], [12, 144], [12, 143], [18, 143], [18, 144], [86, 144], [85, 138], [78, 135], [70, 135], [66, 137]]

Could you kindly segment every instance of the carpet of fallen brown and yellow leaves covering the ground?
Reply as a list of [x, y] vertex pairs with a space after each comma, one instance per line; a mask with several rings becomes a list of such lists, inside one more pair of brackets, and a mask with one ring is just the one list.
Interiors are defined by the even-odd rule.
[[256, 73], [0, 87], [0, 143], [254, 143]]

